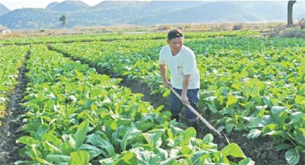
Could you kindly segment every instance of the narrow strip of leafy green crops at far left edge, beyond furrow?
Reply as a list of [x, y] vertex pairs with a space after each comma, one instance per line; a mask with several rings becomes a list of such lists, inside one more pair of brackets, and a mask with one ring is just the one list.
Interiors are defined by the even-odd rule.
[[27, 47], [0, 48], [0, 117], [5, 114], [9, 94], [18, 84], [18, 69], [26, 55]]

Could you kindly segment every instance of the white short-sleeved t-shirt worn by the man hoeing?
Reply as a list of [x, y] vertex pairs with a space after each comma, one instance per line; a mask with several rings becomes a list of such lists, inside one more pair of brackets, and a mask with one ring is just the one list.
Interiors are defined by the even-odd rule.
[[170, 73], [170, 84], [173, 88], [182, 89], [184, 75], [190, 74], [190, 83], [188, 89], [200, 88], [200, 75], [197, 69], [196, 57], [194, 52], [182, 46], [181, 50], [175, 56], [172, 55], [169, 45], [160, 50], [159, 64], [166, 64]]

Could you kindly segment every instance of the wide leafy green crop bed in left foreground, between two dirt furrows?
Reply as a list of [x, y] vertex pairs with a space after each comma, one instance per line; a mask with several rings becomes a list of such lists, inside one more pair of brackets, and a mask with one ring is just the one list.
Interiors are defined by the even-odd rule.
[[194, 128], [182, 130], [141, 94], [119, 87], [120, 79], [99, 75], [88, 65], [33, 46], [27, 60], [28, 87], [21, 156], [30, 164], [253, 164], [234, 143], [217, 150], [213, 136], [197, 139]]

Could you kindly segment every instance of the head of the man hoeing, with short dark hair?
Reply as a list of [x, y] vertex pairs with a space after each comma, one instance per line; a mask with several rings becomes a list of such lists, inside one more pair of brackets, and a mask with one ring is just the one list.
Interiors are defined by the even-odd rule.
[[178, 28], [171, 29], [167, 33], [167, 43], [173, 53], [178, 53], [183, 46], [184, 35]]

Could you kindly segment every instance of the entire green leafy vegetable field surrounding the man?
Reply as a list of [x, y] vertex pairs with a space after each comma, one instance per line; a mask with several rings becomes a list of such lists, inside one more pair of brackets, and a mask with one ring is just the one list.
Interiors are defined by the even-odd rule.
[[170, 120], [158, 63], [166, 33], [7, 39], [0, 164], [304, 164], [305, 40], [185, 35], [200, 113], [230, 144], [203, 123], [196, 132]]

